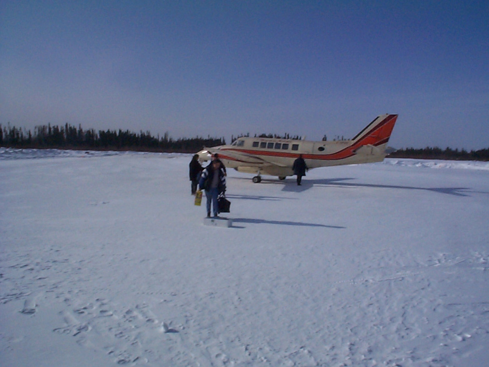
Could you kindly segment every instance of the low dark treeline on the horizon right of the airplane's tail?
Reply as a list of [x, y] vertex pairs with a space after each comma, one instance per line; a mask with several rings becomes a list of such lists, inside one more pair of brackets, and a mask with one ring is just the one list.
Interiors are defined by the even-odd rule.
[[489, 149], [471, 150], [465, 149], [441, 149], [438, 147], [424, 149], [406, 148], [399, 149], [389, 154], [388, 158], [412, 158], [412, 159], [436, 159], [450, 161], [489, 161]]

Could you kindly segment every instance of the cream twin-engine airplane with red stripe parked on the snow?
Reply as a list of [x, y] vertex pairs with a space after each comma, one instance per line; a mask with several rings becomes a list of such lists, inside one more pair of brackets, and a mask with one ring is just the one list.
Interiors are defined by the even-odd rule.
[[252, 179], [254, 183], [262, 181], [262, 174], [285, 180], [287, 176], [294, 175], [292, 165], [299, 155], [302, 155], [309, 169], [383, 161], [397, 118], [398, 115], [380, 115], [351, 140], [242, 137], [230, 145], [204, 147], [197, 154], [199, 161], [208, 161], [217, 153], [226, 167], [256, 174]]

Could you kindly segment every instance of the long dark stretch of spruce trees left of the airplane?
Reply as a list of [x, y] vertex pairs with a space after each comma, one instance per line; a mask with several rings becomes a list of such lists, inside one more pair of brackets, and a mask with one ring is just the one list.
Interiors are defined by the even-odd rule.
[[165, 133], [154, 137], [149, 131], [133, 133], [129, 130], [112, 131], [84, 130], [65, 124], [36, 126], [34, 134], [30, 130], [0, 125], [0, 146], [33, 149], [81, 149], [81, 150], [136, 150], [151, 152], [194, 153], [202, 147], [225, 144], [224, 138], [178, 138]]

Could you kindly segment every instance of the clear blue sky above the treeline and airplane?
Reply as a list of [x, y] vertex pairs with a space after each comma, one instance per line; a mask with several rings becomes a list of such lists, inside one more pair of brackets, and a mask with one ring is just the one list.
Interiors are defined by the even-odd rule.
[[489, 147], [489, 1], [0, 1], [0, 123]]

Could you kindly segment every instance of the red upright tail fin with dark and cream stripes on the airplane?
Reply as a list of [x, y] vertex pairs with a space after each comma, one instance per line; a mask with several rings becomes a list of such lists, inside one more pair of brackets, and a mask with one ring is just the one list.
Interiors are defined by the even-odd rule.
[[352, 145], [356, 149], [364, 145], [373, 145], [375, 147], [387, 146], [387, 142], [394, 129], [394, 124], [398, 115], [380, 115], [360, 131], [355, 138], [352, 139]]

